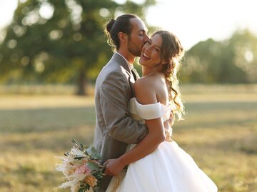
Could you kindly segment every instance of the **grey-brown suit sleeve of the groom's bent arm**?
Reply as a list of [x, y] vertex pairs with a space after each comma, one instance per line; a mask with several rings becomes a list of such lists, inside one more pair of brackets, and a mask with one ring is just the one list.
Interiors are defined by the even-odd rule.
[[111, 72], [101, 85], [101, 108], [112, 138], [124, 143], [138, 143], [146, 136], [147, 128], [129, 116], [130, 91], [126, 75]]

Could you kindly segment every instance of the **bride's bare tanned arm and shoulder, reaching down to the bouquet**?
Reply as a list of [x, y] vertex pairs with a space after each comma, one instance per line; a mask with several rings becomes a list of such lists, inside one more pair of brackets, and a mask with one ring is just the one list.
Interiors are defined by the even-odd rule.
[[[141, 104], [156, 103], [156, 92], [153, 89], [153, 83], [150, 80], [145, 80], [138, 79], [134, 84], [136, 99]], [[119, 158], [106, 161], [106, 174], [115, 176], [124, 166], [152, 153], [165, 140], [161, 118], [146, 120], [146, 126], [148, 128], [148, 134], [134, 148]]]

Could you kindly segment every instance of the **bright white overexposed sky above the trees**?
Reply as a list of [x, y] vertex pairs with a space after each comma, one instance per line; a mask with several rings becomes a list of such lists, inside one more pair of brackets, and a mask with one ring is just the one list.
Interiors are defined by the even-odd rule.
[[[228, 39], [238, 29], [247, 28], [257, 36], [256, 0], [156, 1], [146, 11], [146, 21], [176, 34], [186, 49], [209, 38]], [[11, 22], [16, 6], [17, 0], [0, 0], [0, 29]]]

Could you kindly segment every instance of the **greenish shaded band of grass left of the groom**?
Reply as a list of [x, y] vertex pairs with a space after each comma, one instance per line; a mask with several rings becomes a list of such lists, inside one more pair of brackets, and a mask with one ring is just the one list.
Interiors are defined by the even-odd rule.
[[0, 110], [0, 133], [31, 133], [94, 125], [94, 107]]

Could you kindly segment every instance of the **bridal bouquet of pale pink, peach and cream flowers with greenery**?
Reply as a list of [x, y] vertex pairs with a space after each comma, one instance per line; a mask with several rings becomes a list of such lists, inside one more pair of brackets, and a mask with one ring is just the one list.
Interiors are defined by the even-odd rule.
[[104, 168], [100, 163], [101, 156], [94, 147], [84, 147], [75, 139], [70, 152], [64, 153], [61, 163], [56, 165], [56, 171], [64, 173], [66, 182], [58, 188], [71, 188], [71, 192], [84, 192], [96, 189], [104, 177]]

